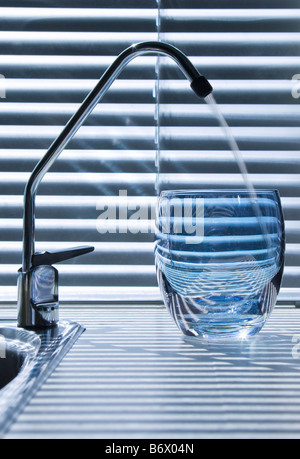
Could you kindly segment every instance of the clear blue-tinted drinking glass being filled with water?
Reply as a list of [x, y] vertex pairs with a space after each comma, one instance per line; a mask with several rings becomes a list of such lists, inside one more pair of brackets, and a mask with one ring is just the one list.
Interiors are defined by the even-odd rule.
[[185, 335], [246, 338], [264, 326], [285, 253], [276, 190], [164, 191], [155, 262], [164, 303]]

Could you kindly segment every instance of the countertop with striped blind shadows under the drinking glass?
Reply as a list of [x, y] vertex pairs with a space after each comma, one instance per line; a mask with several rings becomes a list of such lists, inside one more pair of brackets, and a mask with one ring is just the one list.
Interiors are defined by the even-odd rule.
[[218, 344], [185, 340], [159, 305], [61, 318], [87, 330], [5, 438], [300, 438], [300, 309]]

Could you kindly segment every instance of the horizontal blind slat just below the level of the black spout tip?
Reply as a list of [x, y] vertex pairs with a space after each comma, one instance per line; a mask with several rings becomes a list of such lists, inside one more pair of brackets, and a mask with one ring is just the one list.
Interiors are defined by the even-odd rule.
[[[79, 108], [78, 104], [67, 103], [6, 103], [0, 106], [1, 125], [32, 125], [39, 126], [66, 123]], [[242, 107], [234, 104], [220, 105], [222, 113], [229, 123], [241, 126], [287, 126], [298, 127], [300, 118], [299, 105], [284, 104], [244, 104]], [[139, 123], [144, 126], [155, 125], [154, 104], [101, 104], [93, 111], [86, 124], [97, 126], [126, 125], [128, 120], [132, 125]], [[160, 116], [164, 125], [178, 126], [209, 126], [216, 123], [215, 117], [206, 105], [196, 104], [161, 104]]]

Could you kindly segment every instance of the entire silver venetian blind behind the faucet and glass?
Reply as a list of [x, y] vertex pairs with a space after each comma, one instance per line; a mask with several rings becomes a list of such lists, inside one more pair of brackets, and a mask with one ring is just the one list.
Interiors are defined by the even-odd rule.
[[[101, 7], [92, 0], [72, 7], [67, 0], [42, 6], [0, 0], [0, 13], [2, 301], [16, 298], [29, 173], [114, 57], [157, 38], [183, 50], [212, 82], [254, 185], [279, 189], [287, 229], [280, 299], [300, 300], [300, 109], [293, 80], [300, 73], [300, 9], [294, 0], [226, 6], [161, 0], [159, 21], [154, 0], [101, 1]], [[39, 190], [37, 250], [96, 248], [58, 266], [62, 300], [159, 299], [151, 221], [135, 220], [130, 231], [126, 221], [140, 206], [150, 215], [155, 203], [156, 141], [161, 188], [243, 186], [209, 107], [194, 98], [172, 61], [134, 60]], [[101, 234], [99, 216], [107, 206], [122, 218], [111, 218]]]

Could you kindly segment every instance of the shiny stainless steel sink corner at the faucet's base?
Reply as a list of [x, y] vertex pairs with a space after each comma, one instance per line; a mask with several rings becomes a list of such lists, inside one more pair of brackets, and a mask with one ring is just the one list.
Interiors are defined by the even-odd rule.
[[0, 437], [83, 331], [75, 322], [31, 332], [0, 320]]

